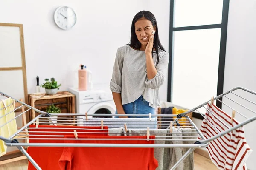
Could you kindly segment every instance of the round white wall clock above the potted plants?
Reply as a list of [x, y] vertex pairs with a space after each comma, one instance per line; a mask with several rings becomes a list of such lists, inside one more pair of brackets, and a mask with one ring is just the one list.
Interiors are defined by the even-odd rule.
[[72, 8], [61, 6], [56, 9], [54, 20], [58, 27], [68, 30], [76, 24], [76, 14]]

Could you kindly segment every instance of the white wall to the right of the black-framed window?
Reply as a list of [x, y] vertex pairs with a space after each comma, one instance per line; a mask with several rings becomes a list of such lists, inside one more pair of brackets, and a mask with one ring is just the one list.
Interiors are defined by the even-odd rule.
[[[256, 91], [256, 1], [247, 0], [246, 3], [240, 0], [230, 1], [227, 48], [224, 74], [224, 91], [236, 86], [242, 86]], [[249, 96], [248, 96], [249, 97]], [[253, 99], [255, 102], [255, 98]], [[233, 105], [230, 105], [231, 107]], [[254, 111], [256, 107], [254, 108]], [[246, 111], [246, 112], [245, 112]], [[248, 113], [241, 110], [241, 113]], [[250, 113], [250, 112], [249, 112]], [[255, 116], [250, 113], [247, 116]], [[237, 119], [241, 118], [236, 114]], [[244, 121], [245, 119], [239, 119]], [[256, 121], [244, 126], [247, 143], [253, 149], [247, 160], [247, 167], [256, 170]]]

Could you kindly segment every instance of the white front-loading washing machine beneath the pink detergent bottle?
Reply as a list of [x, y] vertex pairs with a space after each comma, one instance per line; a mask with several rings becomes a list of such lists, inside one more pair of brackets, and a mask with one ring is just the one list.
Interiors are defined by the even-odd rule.
[[[88, 117], [102, 117], [97, 114], [115, 114], [116, 106], [111, 91], [87, 90], [79, 91], [78, 88], [69, 88], [70, 93], [76, 96], [76, 113], [95, 114]], [[82, 118], [77, 122], [78, 126], [83, 126]], [[108, 116], [109, 117], [109, 116]]]

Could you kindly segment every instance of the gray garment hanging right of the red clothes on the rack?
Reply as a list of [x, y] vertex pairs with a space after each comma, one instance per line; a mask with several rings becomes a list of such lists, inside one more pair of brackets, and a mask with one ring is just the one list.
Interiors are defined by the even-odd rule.
[[[129, 136], [141, 136], [145, 135], [147, 130], [137, 130], [137, 129], [128, 129]], [[196, 139], [195, 137], [186, 137], [192, 136], [191, 128], [172, 128], [172, 132], [176, 134], [168, 134], [170, 129], [156, 129], [149, 130], [149, 133], [157, 137], [155, 144], [193, 144], [195, 141], [166, 141], [161, 139]], [[183, 133], [182, 133], [183, 132]], [[168, 136], [177, 136], [169, 138]], [[178, 136], [184, 136], [183, 138]], [[160, 140], [157, 140], [160, 139]], [[158, 161], [158, 167], [156, 170], [169, 170], [171, 167], [186, 153], [189, 148], [175, 147], [175, 148], [154, 148], [154, 157]], [[190, 153], [186, 159], [179, 164], [176, 170], [194, 170], [194, 156], [193, 153]]]

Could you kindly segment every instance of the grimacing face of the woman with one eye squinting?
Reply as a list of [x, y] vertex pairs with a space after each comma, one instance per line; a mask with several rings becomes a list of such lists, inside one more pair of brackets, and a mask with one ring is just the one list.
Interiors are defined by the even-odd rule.
[[136, 21], [135, 33], [142, 45], [148, 44], [149, 37], [153, 31], [155, 31], [155, 27], [153, 27], [150, 20], [141, 18], [140, 20]]

